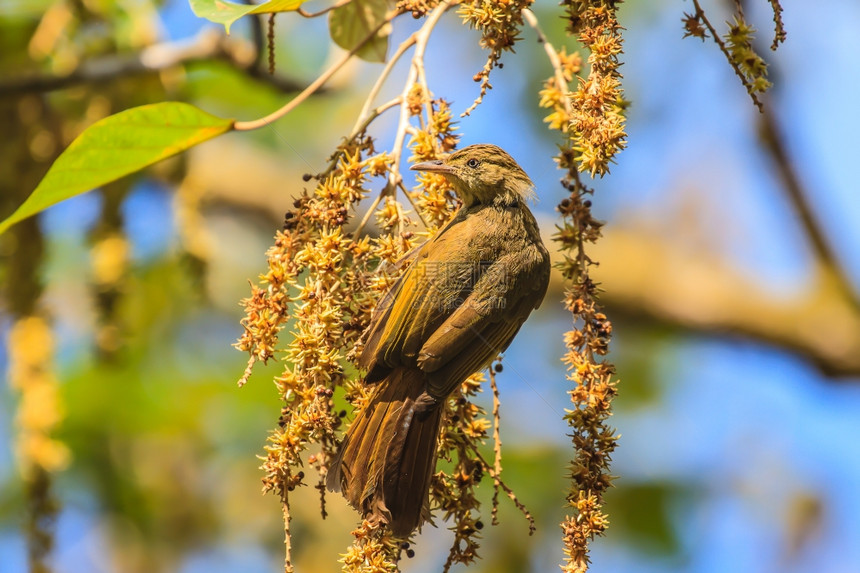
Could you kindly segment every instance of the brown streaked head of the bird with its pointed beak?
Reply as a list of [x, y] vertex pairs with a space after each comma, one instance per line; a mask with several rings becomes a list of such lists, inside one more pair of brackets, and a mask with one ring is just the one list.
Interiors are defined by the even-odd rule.
[[467, 207], [534, 196], [534, 184], [526, 172], [495, 145], [470, 145], [444, 159], [416, 163], [412, 169], [444, 175]]

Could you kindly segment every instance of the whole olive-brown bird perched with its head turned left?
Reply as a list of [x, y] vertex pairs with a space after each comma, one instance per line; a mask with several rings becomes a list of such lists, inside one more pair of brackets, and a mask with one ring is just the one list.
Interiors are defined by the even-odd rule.
[[358, 365], [378, 388], [329, 470], [362, 515], [407, 537], [429, 517], [445, 399], [505, 350], [546, 294], [549, 253], [525, 204], [533, 184], [495, 145], [412, 166], [444, 175], [462, 206], [382, 297]]

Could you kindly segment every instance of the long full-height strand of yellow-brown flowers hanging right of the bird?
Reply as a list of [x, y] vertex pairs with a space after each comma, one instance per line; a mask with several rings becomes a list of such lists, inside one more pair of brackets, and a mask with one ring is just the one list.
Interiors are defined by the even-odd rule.
[[593, 191], [579, 173], [604, 175], [615, 154], [624, 149], [624, 101], [621, 75], [621, 27], [615, 18], [614, 1], [567, 0], [568, 31], [576, 34], [590, 50], [588, 77], [578, 77], [572, 95], [566, 83], [578, 74], [581, 60], [577, 54], [556, 53], [555, 74], [544, 83], [540, 105], [550, 109], [544, 119], [550, 129], [562, 131], [567, 142], [557, 158], [567, 171], [563, 185], [570, 192], [558, 210], [563, 223], [554, 239], [565, 253], [559, 264], [571, 286], [565, 305], [573, 316], [574, 328], [564, 336], [568, 379], [574, 383], [570, 394], [573, 407], [565, 419], [571, 427], [575, 457], [570, 465], [571, 488], [568, 503], [573, 515], [561, 524], [566, 573], [588, 570], [588, 544], [608, 526], [603, 513], [603, 494], [611, 485], [610, 455], [617, 436], [608, 425], [611, 403], [616, 393], [614, 366], [604, 357], [609, 351], [612, 324], [600, 311], [597, 285], [589, 270], [594, 262], [586, 247], [600, 238], [603, 223], [591, 214]]

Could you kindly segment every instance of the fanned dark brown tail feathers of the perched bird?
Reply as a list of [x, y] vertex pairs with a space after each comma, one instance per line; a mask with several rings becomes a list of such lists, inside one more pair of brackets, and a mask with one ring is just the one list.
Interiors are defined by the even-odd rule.
[[365, 518], [407, 537], [429, 517], [442, 408], [416, 407], [424, 390], [420, 370], [396, 368], [379, 384], [346, 433], [327, 485]]

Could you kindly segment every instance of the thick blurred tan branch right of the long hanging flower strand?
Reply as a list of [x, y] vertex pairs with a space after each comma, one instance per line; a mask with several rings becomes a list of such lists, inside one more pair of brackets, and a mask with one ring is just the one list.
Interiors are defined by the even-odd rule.
[[828, 376], [860, 376], [860, 312], [822, 266], [806, 290], [782, 297], [713, 255], [640, 233], [608, 232], [593, 250], [614, 316], [742, 336], [797, 353]]

